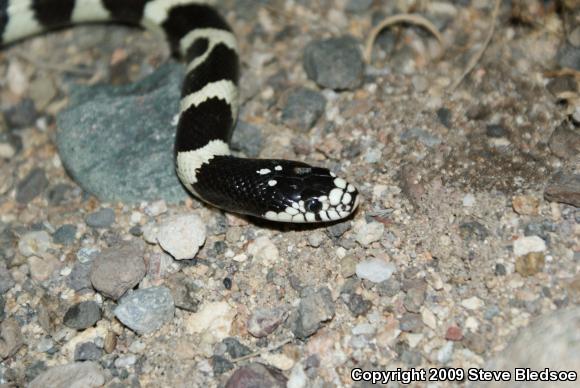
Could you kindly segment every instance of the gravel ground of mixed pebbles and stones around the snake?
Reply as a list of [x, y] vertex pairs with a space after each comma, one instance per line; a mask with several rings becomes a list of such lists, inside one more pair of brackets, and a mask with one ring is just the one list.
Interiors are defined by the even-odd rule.
[[[580, 8], [503, 3], [454, 91], [490, 1], [220, 3], [243, 68], [234, 148], [356, 182], [359, 211], [326, 226], [223, 214], [171, 186], [171, 150], [145, 150], [171, 144], [163, 101], [182, 69], [161, 66], [150, 34], [80, 26], [1, 51], [0, 383], [366, 386], [351, 370], [400, 368], [443, 387], [476, 384], [469, 368], [580, 373]], [[373, 25], [400, 13], [430, 20], [445, 50], [396, 25], [365, 64]], [[131, 123], [154, 109], [133, 147]], [[103, 153], [92, 139], [109, 133], [126, 148]], [[117, 173], [128, 163], [138, 179]]]

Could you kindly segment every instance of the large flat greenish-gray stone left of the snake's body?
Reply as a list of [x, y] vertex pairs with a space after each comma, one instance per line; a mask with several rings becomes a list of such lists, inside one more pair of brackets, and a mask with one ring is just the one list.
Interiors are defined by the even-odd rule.
[[56, 141], [83, 189], [109, 202], [186, 198], [173, 162], [182, 80], [183, 68], [167, 64], [132, 85], [74, 87]]

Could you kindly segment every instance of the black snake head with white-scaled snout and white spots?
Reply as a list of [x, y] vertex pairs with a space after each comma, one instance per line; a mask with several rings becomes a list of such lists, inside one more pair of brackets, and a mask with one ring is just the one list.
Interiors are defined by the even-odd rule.
[[329, 222], [350, 216], [359, 203], [351, 183], [326, 168], [300, 162], [278, 161], [257, 171], [273, 200], [264, 218], [278, 222]]

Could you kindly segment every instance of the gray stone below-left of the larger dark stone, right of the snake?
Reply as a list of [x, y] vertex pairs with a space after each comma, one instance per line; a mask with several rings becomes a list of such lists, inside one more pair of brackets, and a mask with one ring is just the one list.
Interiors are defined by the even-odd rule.
[[326, 98], [311, 89], [297, 88], [286, 97], [282, 110], [282, 120], [289, 127], [297, 127], [308, 131], [324, 113]]

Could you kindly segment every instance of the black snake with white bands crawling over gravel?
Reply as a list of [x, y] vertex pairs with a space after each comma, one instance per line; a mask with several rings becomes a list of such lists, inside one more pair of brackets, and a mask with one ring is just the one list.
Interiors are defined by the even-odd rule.
[[0, 46], [95, 22], [151, 31], [184, 62], [174, 160], [194, 196], [227, 212], [276, 222], [332, 222], [353, 214], [358, 190], [327, 168], [232, 154], [239, 50], [211, 0], [0, 0]]

